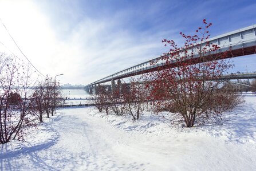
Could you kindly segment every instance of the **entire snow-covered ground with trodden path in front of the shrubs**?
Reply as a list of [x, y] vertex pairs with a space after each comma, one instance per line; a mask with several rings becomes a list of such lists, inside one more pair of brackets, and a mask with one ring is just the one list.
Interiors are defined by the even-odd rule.
[[174, 127], [151, 113], [59, 109], [26, 136], [0, 145], [1, 170], [255, 170], [256, 96], [224, 125]]

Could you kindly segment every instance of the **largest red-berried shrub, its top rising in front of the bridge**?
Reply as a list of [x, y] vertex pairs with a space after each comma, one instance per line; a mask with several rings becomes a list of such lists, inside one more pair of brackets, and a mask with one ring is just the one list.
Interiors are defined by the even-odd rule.
[[217, 115], [234, 108], [237, 101], [237, 96], [220, 98], [226, 94], [219, 78], [232, 65], [225, 60], [226, 53], [216, 52], [219, 46], [208, 41], [211, 23], [205, 19], [203, 23], [204, 27], [199, 27], [195, 35], [180, 32], [185, 39], [184, 47], [178, 48], [174, 40], [163, 40], [171, 49], [160, 62], [170, 67], [153, 72], [153, 82], [148, 85], [156, 112], [167, 110], [172, 114], [170, 120], [184, 121], [186, 127], [193, 127], [196, 120], [207, 118], [208, 113]]

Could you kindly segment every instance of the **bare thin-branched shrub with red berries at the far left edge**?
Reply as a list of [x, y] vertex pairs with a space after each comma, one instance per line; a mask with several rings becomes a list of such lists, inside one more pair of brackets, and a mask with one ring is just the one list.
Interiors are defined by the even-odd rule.
[[[25, 130], [31, 126], [34, 117], [29, 100], [31, 82], [30, 67], [19, 64], [11, 56], [0, 72], [0, 143], [11, 139], [22, 139]], [[5, 60], [6, 61], [6, 60]], [[27, 69], [27, 70], [26, 70]], [[22, 98], [21, 98], [22, 97]]]

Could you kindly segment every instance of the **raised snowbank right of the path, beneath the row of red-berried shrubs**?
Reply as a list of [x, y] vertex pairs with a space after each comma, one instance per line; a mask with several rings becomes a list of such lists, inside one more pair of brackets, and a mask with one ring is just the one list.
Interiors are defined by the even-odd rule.
[[182, 135], [182, 133], [204, 134], [219, 137], [227, 142], [252, 143], [256, 142], [256, 96], [245, 97], [246, 103], [239, 105], [234, 111], [226, 113], [227, 121], [221, 125], [206, 124], [201, 127], [181, 128], [172, 125], [170, 121], [151, 112], [145, 112], [141, 119], [132, 120], [132, 116], [105, 115], [97, 109], [89, 113], [102, 117], [113, 127], [125, 132], [143, 133], [144, 135]]

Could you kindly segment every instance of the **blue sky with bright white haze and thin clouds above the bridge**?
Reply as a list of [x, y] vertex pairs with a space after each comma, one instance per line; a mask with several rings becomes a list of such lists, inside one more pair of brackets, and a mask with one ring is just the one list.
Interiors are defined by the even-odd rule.
[[[5, 1], [0, 18], [43, 74], [88, 84], [182, 44], [202, 20], [212, 36], [256, 24], [256, 1]], [[20, 55], [0, 26], [0, 38]], [[1, 47], [0, 47], [1, 48]], [[235, 71], [256, 71], [256, 55], [235, 58]]]

